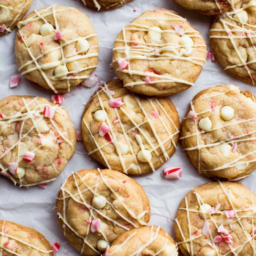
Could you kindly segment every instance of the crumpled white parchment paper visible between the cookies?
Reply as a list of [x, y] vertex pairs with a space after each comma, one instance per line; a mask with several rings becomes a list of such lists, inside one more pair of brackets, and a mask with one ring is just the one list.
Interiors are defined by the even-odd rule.
[[[110, 69], [112, 58], [113, 42], [120, 33], [123, 26], [132, 22], [145, 10], [166, 8], [174, 10], [180, 16], [187, 18], [192, 26], [199, 30], [206, 40], [207, 49], [210, 50], [208, 31], [211, 19], [196, 11], [184, 9], [174, 2], [174, 0], [133, 0], [129, 4], [115, 10], [95, 12], [84, 6], [79, 0], [34, 0], [28, 13], [35, 9], [50, 6], [52, 4], [73, 6], [80, 9], [91, 20], [93, 27], [99, 38], [99, 65], [94, 71], [100, 80], [108, 81], [115, 74]], [[134, 9], [136, 12], [134, 12]], [[9, 79], [18, 74], [14, 54], [14, 38], [16, 29], [12, 33], [0, 37], [0, 100], [9, 95], [34, 95], [51, 99], [52, 92], [36, 89], [24, 77], [19, 86], [10, 89]], [[226, 85], [234, 83], [241, 90], [250, 90], [256, 94], [256, 87], [245, 84], [240, 80], [231, 77], [223, 71], [218, 62], [208, 61], [204, 66], [200, 77], [196, 81], [196, 86], [185, 92], [170, 97], [176, 105], [180, 120], [184, 118], [190, 100], [194, 95], [204, 88], [214, 87], [218, 84]], [[81, 116], [84, 103], [87, 103], [91, 94], [97, 90], [97, 86], [89, 88], [76, 88], [70, 93], [75, 95], [65, 100], [62, 106], [69, 112], [70, 118], [80, 131]], [[183, 176], [179, 180], [167, 180], [163, 176], [163, 169], [167, 166], [183, 167]], [[44, 234], [52, 244], [59, 241], [61, 244], [57, 255], [64, 255], [63, 250], [68, 250], [69, 255], [80, 255], [74, 250], [63, 236], [56, 220], [54, 205], [59, 187], [63, 180], [78, 170], [84, 168], [102, 168], [87, 155], [82, 142], [77, 143], [76, 154], [70, 159], [62, 174], [54, 182], [47, 185], [46, 189], [32, 187], [29, 189], [14, 186], [5, 177], [0, 176], [0, 219], [17, 222], [30, 228], [34, 228]], [[173, 157], [155, 173], [134, 177], [140, 183], [151, 202], [150, 224], [161, 226], [168, 233], [174, 236], [174, 220], [180, 201], [191, 188], [200, 186], [211, 179], [201, 177], [194, 167], [189, 163], [182, 148], [178, 145], [177, 152]], [[242, 184], [256, 192], [253, 184], [256, 182], [255, 173], [242, 180]]]

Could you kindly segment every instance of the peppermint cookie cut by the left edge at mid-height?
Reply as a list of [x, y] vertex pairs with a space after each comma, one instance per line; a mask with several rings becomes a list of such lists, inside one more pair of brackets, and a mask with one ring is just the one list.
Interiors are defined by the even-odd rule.
[[0, 101], [0, 175], [20, 186], [55, 180], [76, 151], [68, 112], [41, 97]]

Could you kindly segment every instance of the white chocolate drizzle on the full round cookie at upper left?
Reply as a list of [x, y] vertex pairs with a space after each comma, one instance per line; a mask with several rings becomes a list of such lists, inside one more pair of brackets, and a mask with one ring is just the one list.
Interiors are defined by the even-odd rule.
[[[56, 33], [59, 29], [58, 21], [57, 21], [57, 18], [56, 18], [56, 13], [65, 12], [66, 10], [69, 10], [69, 9], [73, 9], [73, 8], [72, 7], [67, 7], [67, 8], [62, 8], [62, 9], [61, 8], [56, 9], [56, 5], [52, 5], [52, 6], [49, 6], [49, 7], [45, 8], [45, 9], [40, 10], [39, 12], [37, 10], [35, 10], [35, 14], [33, 16], [31, 16], [30, 18], [28, 18], [28, 19], [26, 19], [22, 22], [19, 22], [18, 27], [20, 28], [22, 26], [27, 25], [28, 23], [35, 22], [36, 20], [40, 20], [40, 19], [44, 20], [45, 24], [47, 24], [47, 21], [46, 21], [45, 17], [52, 15], [54, 17], [54, 20], [55, 20], [55, 28], [56, 29], [54, 29], [54, 32]], [[45, 79], [49, 88], [52, 91], [54, 91], [55, 93], [58, 93], [58, 91], [55, 89], [54, 85], [51, 83], [50, 80], [52, 80], [52, 81], [65, 80], [67, 82], [67, 87], [68, 87], [68, 92], [69, 92], [70, 91], [70, 80], [79, 80], [79, 79], [84, 80], [84, 79], [87, 79], [89, 77], [89, 76], [78, 76], [79, 72], [84, 71], [84, 70], [88, 70], [88, 69], [97, 68], [97, 65], [89, 66], [89, 67], [85, 67], [85, 68], [80, 68], [79, 70], [68, 71], [67, 76], [65, 76], [65, 77], [53, 76], [50, 79], [48, 79], [48, 77], [46, 76], [45, 71], [44, 71], [44, 70], [48, 70], [48, 69], [51, 69], [51, 68], [56, 68], [60, 65], [64, 65], [65, 68], [67, 68], [67, 64], [70, 63], [70, 62], [78, 61], [78, 60], [82, 60], [82, 59], [93, 58], [93, 57], [98, 57], [99, 54], [96, 53], [96, 52], [91, 53], [91, 54], [88, 53], [86, 55], [82, 55], [81, 51], [80, 52], [76, 51], [76, 52], [73, 52], [72, 54], [69, 54], [69, 55], [65, 56], [64, 51], [63, 51], [63, 47], [69, 46], [73, 42], [77, 42], [80, 39], [88, 39], [88, 38], [92, 38], [92, 37], [97, 37], [96, 34], [91, 34], [91, 35], [84, 36], [84, 37], [78, 37], [78, 38], [75, 38], [75, 39], [72, 39], [72, 40], [69, 40], [69, 41], [67, 41], [64, 37], [62, 40], [59, 40], [60, 45], [58, 47], [51, 48], [51, 49], [43, 52], [41, 55], [39, 55], [37, 57], [35, 57], [33, 55], [33, 53], [31, 52], [31, 50], [29, 49], [29, 47], [27, 45], [27, 42], [25, 40], [25, 37], [23, 36], [21, 30], [19, 30], [19, 34], [20, 34], [20, 38], [23, 40], [23, 42], [24, 42], [24, 44], [27, 48], [29, 56], [31, 57], [31, 61], [28, 61], [23, 66], [21, 66], [19, 68], [19, 71], [22, 72], [22, 75], [25, 75], [25, 74], [30, 73], [32, 71], [38, 70], [40, 72], [41, 76]], [[98, 47], [99, 46], [91, 46], [91, 47], [89, 47], [89, 50], [92, 49], [92, 48], [98, 48]], [[56, 50], [61, 51], [61, 57], [62, 57], [61, 60], [46, 63], [44, 65], [39, 65], [38, 64], [39, 59], [44, 58], [47, 54], [50, 54], [51, 52], [54, 52]], [[24, 68], [27, 68], [29, 65], [31, 65], [33, 63], [35, 65], [34, 68], [30, 68], [30, 69], [27, 69], [26, 71], [22, 71]]]

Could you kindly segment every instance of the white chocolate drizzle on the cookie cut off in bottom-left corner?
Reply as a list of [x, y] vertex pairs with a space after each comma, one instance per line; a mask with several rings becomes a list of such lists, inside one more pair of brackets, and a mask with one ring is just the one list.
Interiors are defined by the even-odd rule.
[[24, 244], [24, 246], [30, 247], [31, 250], [36, 250], [38, 252], [44, 253], [44, 255], [45, 254], [50, 255], [50, 253], [52, 253], [52, 251], [46, 251], [46, 250], [40, 249], [40, 248], [34, 246], [33, 244], [30, 244], [28, 242], [23, 241], [22, 239], [19, 239], [17, 237], [11, 236], [10, 234], [8, 234], [8, 232], [4, 232], [4, 228], [5, 228], [5, 221], [4, 221], [3, 226], [2, 226], [2, 231], [0, 232], [0, 240], [1, 240], [1, 243], [0, 243], [0, 248], [1, 248], [0, 256], [3, 255], [4, 251], [6, 251], [7, 253], [16, 255], [16, 256], [24, 256], [24, 254], [19, 254], [19, 253], [15, 252], [15, 251], [9, 250], [6, 247], [4, 247], [4, 244], [3, 244], [4, 238], [13, 239], [13, 240], [15, 240], [18, 243]]

